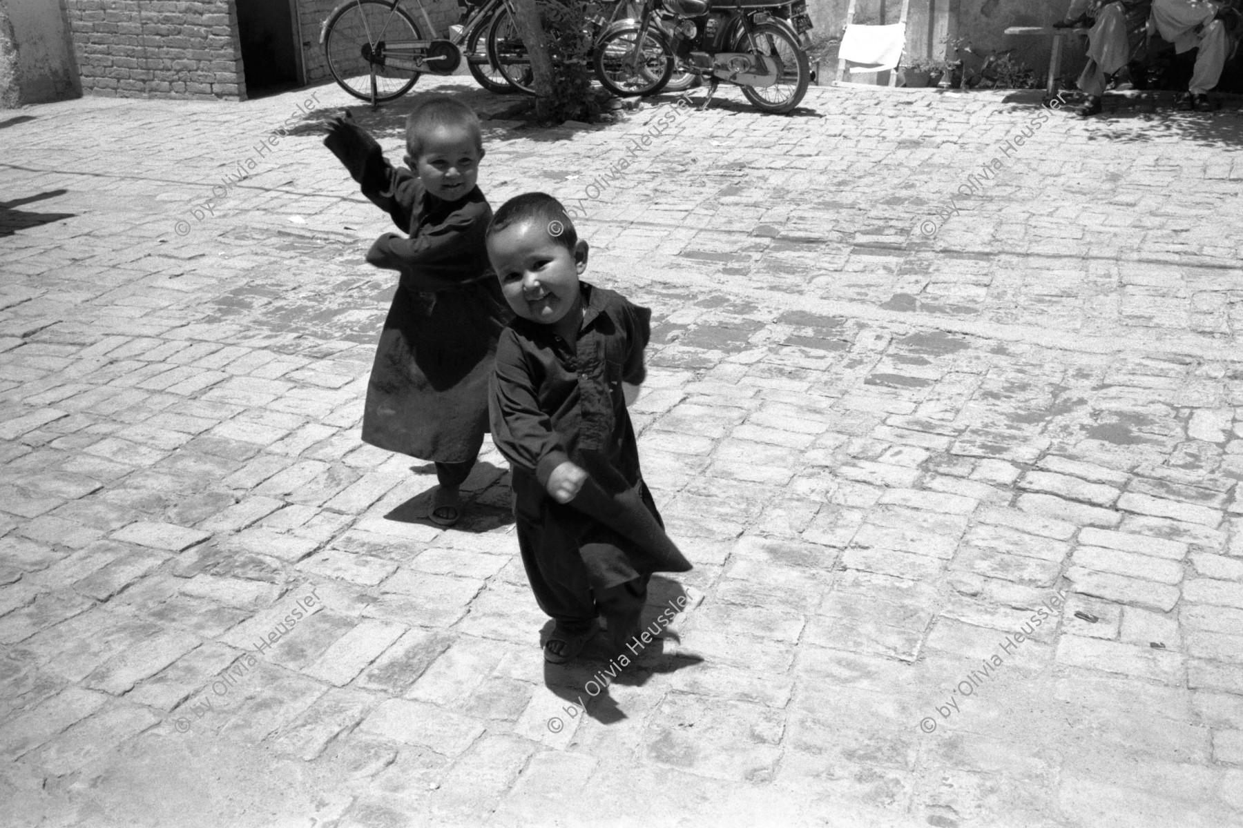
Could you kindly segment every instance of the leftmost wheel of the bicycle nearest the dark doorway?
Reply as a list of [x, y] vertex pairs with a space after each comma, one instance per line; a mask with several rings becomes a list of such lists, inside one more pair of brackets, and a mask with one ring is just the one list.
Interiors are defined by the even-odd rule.
[[363, 101], [395, 101], [419, 79], [414, 41], [419, 27], [401, 7], [354, 0], [324, 26], [323, 55], [341, 88]]

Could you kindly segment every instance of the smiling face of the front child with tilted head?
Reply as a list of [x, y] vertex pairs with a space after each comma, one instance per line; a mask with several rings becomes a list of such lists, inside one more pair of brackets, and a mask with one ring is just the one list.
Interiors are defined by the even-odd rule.
[[587, 269], [587, 242], [573, 252], [548, 235], [547, 222], [517, 221], [487, 240], [501, 292], [513, 313], [539, 325], [553, 325], [562, 338], [578, 331], [583, 297], [578, 277]]

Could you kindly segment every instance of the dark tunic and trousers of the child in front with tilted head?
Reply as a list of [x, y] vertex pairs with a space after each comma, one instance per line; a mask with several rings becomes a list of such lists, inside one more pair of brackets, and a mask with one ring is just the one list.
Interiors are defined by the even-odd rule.
[[[515, 319], [501, 334], [492, 380], [492, 441], [510, 461], [513, 514], [527, 577], [541, 610], [567, 624], [594, 619], [592, 590], [667, 570], [628, 538], [548, 494], [548, 475], [572, 461], [605, 490], [638, 490], [639, 448], [622, 382], [645, 376], [651, 312], [613, 290], [582, 283], [577, 348], [548, 325]], [[689, 567], [689, 566], [687, 566]]]

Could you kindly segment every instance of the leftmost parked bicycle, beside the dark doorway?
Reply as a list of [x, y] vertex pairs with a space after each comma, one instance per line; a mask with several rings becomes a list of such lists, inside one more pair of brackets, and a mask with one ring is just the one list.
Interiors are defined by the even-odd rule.
[[[435, 32], [420, 0], [413, 0], [429, 32]], [[319, 43], [333, 79], [349, 94], [380, 103], [400, 98], [424, 72], [452, 74], [466, 58], [475, 81], [490, 92], [513, 87], [487, 58], [487, 32], [510, 0], [459, 0], [464, 20], [446, 38], [428, 40], [401, 0], [346, 0], [319, 30]]]

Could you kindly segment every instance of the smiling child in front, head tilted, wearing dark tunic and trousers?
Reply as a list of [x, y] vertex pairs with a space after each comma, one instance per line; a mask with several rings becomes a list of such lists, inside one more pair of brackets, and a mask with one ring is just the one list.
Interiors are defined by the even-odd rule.
[[691, 569], [643, 483], [626, 412], [645, 377], [651, 312], [579, 282], [587, 242], [549, 195], [507, 201], [487, 252], [517, 315], [497, 345], [492, 439], [510, 461], [527, 578], [556, 621], [544, 658], [578, 655], [598, 614], [614, 647], [638, 655], [649, 577]]

